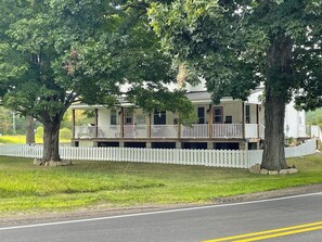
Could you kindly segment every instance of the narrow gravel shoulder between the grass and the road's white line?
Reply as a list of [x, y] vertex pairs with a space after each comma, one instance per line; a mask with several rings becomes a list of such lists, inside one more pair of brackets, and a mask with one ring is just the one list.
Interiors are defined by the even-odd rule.
[[111, 208], [111, 207], [100, 206], [100, 207], [91, 207], [91, 208], [79, 208], [73, 212], [54, 212], [54, 213], [47, 213], [47, 214], [42, 213], [42, 214], [33, 214], [33, 215], [14, 214], [10, 216], [7, 215], [3, 217], [0, 216], [0, 227], [22, 226], [22, 225], [41, 224], [41, 222], [54, 222], [54, 221], [63, 221], [63, 220], [70, 220], [70, 219], [72, 220], [86, 219], [86, 218], [93, 218], [93, 217], [116, 216], [116, 215], [124, 215], [124, 214], [136, 214], [136, 213], [173, 209], [173, 208], [192, 207], [192, 206], [210, 205], [210, 204], [246, 202], [246, 201], [265, 200], [265, 199], [297, 195], [297, 194], [305, 194], [305, 193], [314, 193], [314, 192], [322, 192], [322, 183], [214, 199], [211, 203], [207, 203], [207, 204], [167, 204], [167, 205], [146, 204], [142, 206], [131, 206], [131, 207], [123, 207], [123, 208]]

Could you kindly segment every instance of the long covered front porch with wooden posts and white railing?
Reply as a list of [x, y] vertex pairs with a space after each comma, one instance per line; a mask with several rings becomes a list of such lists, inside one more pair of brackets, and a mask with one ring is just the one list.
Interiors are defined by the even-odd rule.
[[[100, 142], [211, 142], [259, 141], [263, 133], [260, 105], [242, 101], [226, 101], [219, 105], [194, 103], [196, 124], [180, 124], [177, 114], [163, 111], [152, 114], [130, 105], [113, 109], [73, 106], [73, 140]], [[77, 109], [94, 110], [90, 125], [76, 125]]]

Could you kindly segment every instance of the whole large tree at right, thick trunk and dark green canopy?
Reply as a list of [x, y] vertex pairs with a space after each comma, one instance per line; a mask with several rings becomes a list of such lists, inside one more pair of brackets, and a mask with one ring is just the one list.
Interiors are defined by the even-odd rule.
[[317, 0], [178, 0], [154, 3], [150, 16], [167, 52], [206, 79], [214, 102], [245, 100], [265, 85], [261, 167], [280, 170], [285, 104], [321, 84], [321, 9]]

